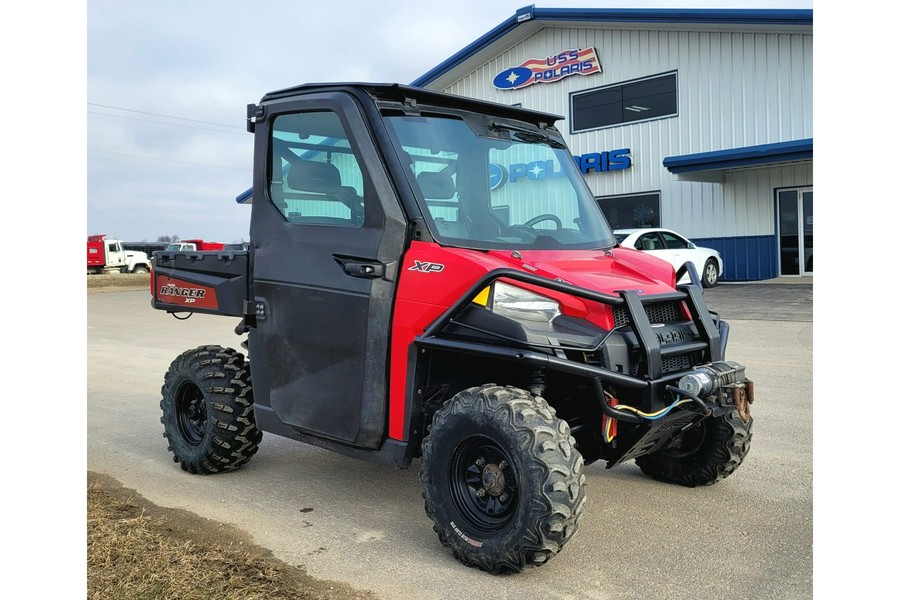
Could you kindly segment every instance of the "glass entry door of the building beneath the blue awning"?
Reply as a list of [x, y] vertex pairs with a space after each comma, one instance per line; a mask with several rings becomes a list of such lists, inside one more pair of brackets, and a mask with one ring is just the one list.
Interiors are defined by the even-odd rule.
[[778, 191], [778, 247], [782, 275], [812, 275], [812, 188]]

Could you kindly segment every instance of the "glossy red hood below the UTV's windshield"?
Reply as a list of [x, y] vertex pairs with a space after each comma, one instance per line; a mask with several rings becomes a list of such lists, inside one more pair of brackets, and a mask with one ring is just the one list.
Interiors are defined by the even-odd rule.
[[[487, 255], [503, 266], [602, 293], [636, 289], [662, 294], [675, 287], [675, 271], [658, 258], [628, 248], [604, 250], [493, 250]], [[521, 258], [518, 258], [520, 256]], [[493, 261], [492, 261], [493, 262]], [[499, 266], [499, 265], [498, 265]]]

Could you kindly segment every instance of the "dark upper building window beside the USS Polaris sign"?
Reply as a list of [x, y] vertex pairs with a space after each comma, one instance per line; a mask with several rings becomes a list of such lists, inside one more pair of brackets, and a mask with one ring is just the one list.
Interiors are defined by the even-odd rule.
[[664, 73], [570, 96], [572, 133], [678, 114], [677, 73]]

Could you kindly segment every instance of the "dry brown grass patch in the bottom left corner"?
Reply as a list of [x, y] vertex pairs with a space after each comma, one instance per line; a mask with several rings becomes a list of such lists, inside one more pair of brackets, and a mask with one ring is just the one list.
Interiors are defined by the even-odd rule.
[[275, 559], [249, 537], [88, 473], [89, 600], [374, 600]]

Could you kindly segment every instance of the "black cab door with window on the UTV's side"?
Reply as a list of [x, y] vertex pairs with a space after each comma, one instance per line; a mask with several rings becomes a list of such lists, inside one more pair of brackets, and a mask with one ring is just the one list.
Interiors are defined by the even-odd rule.
[[376, 448], [406, 221], [359, 102], [316, 93], [257, 119], [249, 350], [264, 430]]

